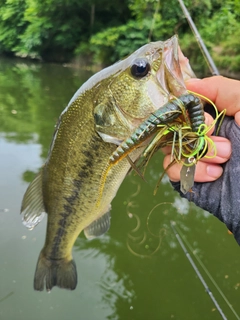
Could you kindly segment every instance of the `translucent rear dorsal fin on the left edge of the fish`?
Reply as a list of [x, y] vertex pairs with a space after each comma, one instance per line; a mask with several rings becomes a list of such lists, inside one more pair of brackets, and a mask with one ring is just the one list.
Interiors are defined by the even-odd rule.
[[21, 215], [23, 224], [28, 229], [33, 229], [45, 215], [41, 172], [35, 177], [25, 192], [22, 201]]

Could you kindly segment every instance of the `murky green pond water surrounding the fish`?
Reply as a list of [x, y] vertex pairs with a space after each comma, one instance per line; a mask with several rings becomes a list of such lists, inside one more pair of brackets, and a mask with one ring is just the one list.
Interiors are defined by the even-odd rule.
[[[46, 158], [60, 112], [89, 76], [62, 66], [0, 61], [0, 319], [221, 319], [171, 220], [240, 314], [239, 247], [221, 222], [180, 199], [167, 179], [153, 196], [160, 153], [149, 165], [147, 183], [134, 175], [125, 179], [113, 201], [110, 231], [93, 241], [78, 238], [77, 289], [33, 290], [46, 220], [25, 229], [21, 199]], [[227, 318], [235, 319], [196, 263]]]

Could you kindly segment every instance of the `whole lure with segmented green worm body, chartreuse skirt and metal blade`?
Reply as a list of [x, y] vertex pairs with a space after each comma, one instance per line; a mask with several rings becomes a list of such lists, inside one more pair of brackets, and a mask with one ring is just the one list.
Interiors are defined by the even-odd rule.
[[181, 191], [183, 193], [188, 192], [194, 183], [196, 163], [206, 155], [208, 145], [211, 149], [214, 149], [212, 157], [216, 155], [215, 146], [212, 140], [207, 137], [207, 132], [222, 115], [222, 113], [218, 115], [215, 105], [206, 99], [213, 104], [216, 112], [216, 119], [212, 125], [210, 127], [206, 126], [203, 104], [200, 98], [205, 97], [189, 92], [179, 98], [171, 99], [135, 129], [132, 135], [124, 140], [109, 157], [108, 166], [100, 181], [100, 196], [109, 170], [124, 158], [127, 157], [133, 169], [139, 173], [138, 166], [132, 163], [129, 154], [154, 135], [153, 140], [143, 153], [145, 160], [141, 166], [144, 164], [146, 167], [152, 155], [159, 148], [171, 145], [172, 162], [177, 161], [183, 165], [180, 172]]

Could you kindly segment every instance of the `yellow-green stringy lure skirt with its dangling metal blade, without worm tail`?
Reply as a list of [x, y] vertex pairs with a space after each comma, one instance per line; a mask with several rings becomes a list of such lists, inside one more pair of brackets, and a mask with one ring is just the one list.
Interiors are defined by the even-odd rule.
[[[171, 163], [168, 168], [175, 162], [179, 162], [183, 165], [180, 172], [180, 189], [182, 193], [187, 193], [189, 190], [191, 190], [194, 184], [194, 175], [197, 162], [202, 157], [214, 158], [216, 156], [216, 146], [211, 138], [207, 136], [207, 133], [211, 129], [213, 129], [214, 126], [216, 126], [215, 134], [218, 135], [221, 123], [226, 113], [226, 110], [218, 113], [215, 104], [205, 96], [191, 91], [189, 91], [189, 93], [197, 95], [199, 98], [207, 101], [210, 105], [212, 105], [215, 110], [215, 119], [210, 126], [207, 126], [205, 123], [201, 123], [203, 109], [201, 111], [198, 109], [197, 105], [192, 105], [192, 108], [188, 110], [188, 114], [190, 115], [192, 121], [192, 130], [186, 125], [186, 123], [184, 123], [184, 121], [187, 122], [188, 120], [186, 117], [184, 117], [182, 124], [178, 127], [176, 127], [176, 124], [173, 124], [173, 126], [171, 124], [170, 130], [174, 132], [174, 137], [172, 140], [170, 139], [167, 142], [167, 145], [172, 145]], [[178, 141], [175, 141], [175, 136], [178, 137]], [[161, 139], [161, 136], [158, 137], [157, 135], [154, 138], [154, 140], [156, 141], [153, 140], [151, 142], [151, 145], [153, 144], [153, 147], [156, 149], [158, 149], [159, 147], [162, 148], [164, 145], [162, 144]], [[158, 146], [158, 144], [160, 146]], [[151, 145], [149, 147], [151, 147]], [[143, 154], [144, 156], [147, 153], [149, 147], [145, 150]], [[206, 155], [208, 150], [213, 151], [212, 155]], [[151, 158], [153, 153], [154, 151], [150, 155], [148, 155], [149, 159]], [[185, 161], [183, 161], [182, 158], [184, 158]], [[149, 159], [147, 160], [147, 162], [149, 161]], [[167, 169], [165, 171], [167, 171]], [[159, 187], [164, 173], [159, 178], [158, 184], [154, 190], [154, 194]]]

